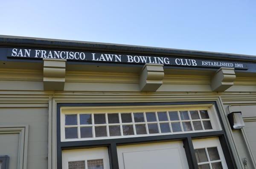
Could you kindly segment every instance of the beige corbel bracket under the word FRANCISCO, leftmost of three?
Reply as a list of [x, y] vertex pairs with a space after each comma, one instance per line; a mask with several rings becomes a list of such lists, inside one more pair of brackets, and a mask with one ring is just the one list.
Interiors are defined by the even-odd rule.
[[66, 59], [44, 59], [44, 90], [64, 90], [66, 61]]

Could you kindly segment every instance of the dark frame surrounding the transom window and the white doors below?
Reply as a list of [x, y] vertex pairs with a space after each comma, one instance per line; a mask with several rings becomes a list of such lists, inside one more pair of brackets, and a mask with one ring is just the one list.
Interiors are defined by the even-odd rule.
[[[89, 141], [67, 141], [61, 142], [61, 126], [60, 116], [61, 107], [84, 107], [84, 106], [138, 106], [138, 105], [186, 105], [186, 104], [213, 104], [216, 108], [218, 119], [221, 123], [222, 130], [210, 132], [193, 132], [171, 135], [144, 136], [135, 138], [114, 138], [104, 140], [89, 140]], [[65, 149], [82, 149], [93, 147], [108, 147], [110, 169], [119, 169], [117, 158], [117, 146], [128, 144], [143, 144], [163, 141], [183, 141], [186, 158], [189, 169], [198, 169], [198, 164], [195, 157], [195, 151], [192, 144], [192, 139], [195, 138], [211, 138], [218, 137], [221, 143], [226, 163], [228, 168], [236, 169], [234, 157], [232, 155], [230, 145], [228, 144], [226, 131], [221, 119], [216, 101], [193, 101], [193, 102], [139, 102], [139, 103], [58, 103], [57, 104], [57, 169], [62, 169], [62, 150]]]

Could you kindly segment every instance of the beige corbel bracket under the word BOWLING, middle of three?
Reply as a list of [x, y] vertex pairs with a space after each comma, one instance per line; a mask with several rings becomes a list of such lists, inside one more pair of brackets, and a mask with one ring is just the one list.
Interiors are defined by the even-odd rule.
[[163, 84], [163, 65], [146, 63], [140, 74], [140, 91], [155, 92]]

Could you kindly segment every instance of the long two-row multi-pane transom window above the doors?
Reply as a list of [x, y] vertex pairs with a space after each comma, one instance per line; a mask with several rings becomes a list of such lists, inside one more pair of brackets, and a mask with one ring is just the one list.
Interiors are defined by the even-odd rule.
[[63, 141], [219, 130], [208, 109], [62, 113]]

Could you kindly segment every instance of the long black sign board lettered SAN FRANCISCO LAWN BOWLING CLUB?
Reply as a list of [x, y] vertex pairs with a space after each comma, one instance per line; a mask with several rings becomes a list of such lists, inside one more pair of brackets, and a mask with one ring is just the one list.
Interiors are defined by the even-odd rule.
[[55, 51], [41, 49], [8, 48], [7, 57], [28, 59], [67, 59], [89, 62], [114, 62], [132, 64], [163, 64], [173, 66], [205, 67], [205, 68], [235, 68], [247, 70], [242, 62], [226, 62], [207, 59], [177, 58], [167, 56], [141, 56], [129, 54], [89, 53], [81, 51]]

